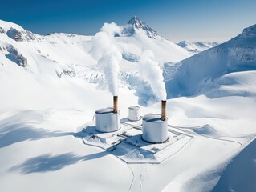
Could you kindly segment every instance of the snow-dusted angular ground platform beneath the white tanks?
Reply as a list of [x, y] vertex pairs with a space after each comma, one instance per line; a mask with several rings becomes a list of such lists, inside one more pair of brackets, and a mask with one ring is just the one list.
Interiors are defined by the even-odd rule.
[[131, 122], [128, 118], [120, 120], [120, 129], [112, 133], [100, 133], [95, 122], [88, 122], [83, 130], [75, 134], [89, 146], [107, 150], [126, 163], [161, 163], [182, 150], [193, 139], [189, 134], [179, 133], [169, 128], [169, 139], [163, 143], [148, 143], [142, 140], [141, 120]]

